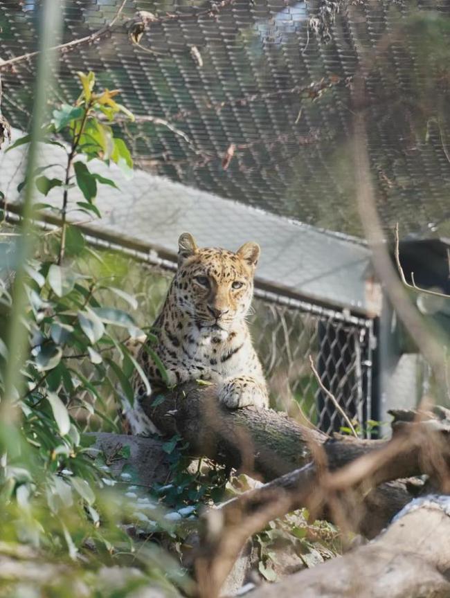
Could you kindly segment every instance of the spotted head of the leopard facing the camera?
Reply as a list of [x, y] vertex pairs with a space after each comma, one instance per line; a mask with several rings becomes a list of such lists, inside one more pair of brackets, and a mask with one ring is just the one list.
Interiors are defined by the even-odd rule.
[[179, 237], [178, 271], [174, 278], [177, 309], [199, 329], [227, 332], [244, 320], [253, 297], [253, 277], [260, 246], [240, 249], [199, 248], [194, 237]]

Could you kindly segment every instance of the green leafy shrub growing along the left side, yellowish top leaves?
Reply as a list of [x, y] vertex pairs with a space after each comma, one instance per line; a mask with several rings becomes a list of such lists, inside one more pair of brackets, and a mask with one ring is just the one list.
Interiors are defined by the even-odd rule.
[[[15, 547], [28, 545], [32, 552], [24, 556], [25, 568], [36, 564], [43, 570], [50, 568], [48, 579], [43, 574], [42, 588], [32, 588], [33, 592], [58, 596], [68, 595], [75, 577], [82, 595], [98, 595], [97, 577], [93, 577], [98, 568], [139, 565], [138, 579], [130, 574], [129, 583], [122, 583], [120, 591], [102, 586], [102, 595], [125, 596], [149, 579], [166, 588], [170, 583], [154, 557], [147, 555], [145, 563], [141, 561], [146, 550], [140, 550], [136, 559], [134, 543], [123, 527], [135, 514], [123, 494], [111, 494], [107, 474], [91, 456], [92, 439], [82, 434], [80, 422], [92, 417], [103, 429], [116, 429], [100, 389], [109, 386], [111, 392], [120, 392], [132, 403], [129, 379], [134, 371], [148, 386], [125, 342], [143, 331], [129, 313], [136, 308], [136, 299], [114, 286], [114, 275], [96, 276], [89, 268], [91, 260], [102, 262], [102, 256], [89, 248], [81, 230], [69, 224], [66, 215], [72, 189], [78, 187], [85, 200], [77, 201], [76, 208], [97, 217], [98, 185], [116, 187], [112, 179], [96, 173], [91, 163], [116, 163], [130, 172], [129, 150], [114, 136], [111, 125], [118, 112], [129, 118], [132, 115], [116, 102], [117, 91], [95, 91], [93, 73], [78, 75], [82, 92], [77, 102], [54, 109], [51, 122], [39, 136], [42, 143], [65, 152], [64, 176], [47, 176], [53, 165], [42, 165], [28, 172], [19, 185], [20, 189], [34, 185], [44, 197], [60, 190], [60, 207], [36, 203], [35, 212], [51, 209], [62, 225], [46, 235], [35, 259], [26, 264], [28, 359], [22, 372], [26, 386], [12, 397], [4, 396], [8, 347], [3, 335], [15, 304], [8, 284], [0, 289], [0, 392], [3, 401], [8, 399], [13, 412], [20, 414], [18, 444], [8, 441], [7, 428], [0, 439], [0, 554], [6, 558]], [[24, 136], [8, 151], [29, 141], [30, 136]], [[15, 246], [6, 245], [4, 253], [13, 269]], [[105, 302], [112, 296], [123, 307]], [[15, 427], [14, 422], [10, 427]], [[56, 576], [53, 565], [58, 566]], [[20, 594], [12, 581], [7, 595]]]

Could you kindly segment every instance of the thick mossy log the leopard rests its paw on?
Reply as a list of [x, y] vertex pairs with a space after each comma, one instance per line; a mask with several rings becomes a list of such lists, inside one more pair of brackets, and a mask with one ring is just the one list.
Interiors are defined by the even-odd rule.
[[162, 433], [181, 435], [193, 455], [210, 457], [264, 481], [309, 463], [309, 443], [329, 440], [271, 409], [223, 408], [215, 386], [186, 383], [147, 397], [142, 406]]

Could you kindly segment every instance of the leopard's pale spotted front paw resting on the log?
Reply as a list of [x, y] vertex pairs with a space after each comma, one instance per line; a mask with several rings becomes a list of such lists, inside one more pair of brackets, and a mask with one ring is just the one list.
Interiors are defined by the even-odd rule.
[[219, 388], [219, 401], [229, 409], [250, 406], [257, 409], [269, 407], [265, 381], [250, 376], [226, 379]]

